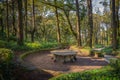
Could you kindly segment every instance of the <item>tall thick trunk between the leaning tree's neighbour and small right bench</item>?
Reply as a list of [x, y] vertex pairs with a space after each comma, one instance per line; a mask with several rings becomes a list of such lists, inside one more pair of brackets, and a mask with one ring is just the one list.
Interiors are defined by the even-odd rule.
[[92, 0], [87, 0], [87, 7], [88, 7], [88, 25], [90, 27], [89, 32], [89, 46], [92, 48], [92, 37], [93, 37], [93, 16], [92, 16]]

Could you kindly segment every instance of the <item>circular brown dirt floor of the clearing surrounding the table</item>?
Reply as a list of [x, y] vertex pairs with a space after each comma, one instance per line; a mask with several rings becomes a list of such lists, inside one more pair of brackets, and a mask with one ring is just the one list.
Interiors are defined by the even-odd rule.
[[93, 59], [91, 57], [77, 56], [77, 61], [74, 63], [62, 64], [59, 62], [53, 62], [52, 54], [50, 51], [41, 51], [39, 53], [31, 54], [27, 56], [24, 61], [26, 64], [36, 67], [37, 69], [43, 69], [53, 75], [59, 73], [68, 72], [80, 72], [89, 69], [101, 68], [107, 65], [104, 59]]

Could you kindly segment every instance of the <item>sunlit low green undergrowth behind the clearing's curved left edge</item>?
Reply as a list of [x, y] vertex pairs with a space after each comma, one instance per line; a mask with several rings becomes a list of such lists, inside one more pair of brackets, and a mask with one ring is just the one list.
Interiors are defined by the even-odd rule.
[[12, 50], [24, 50], [24, 51], [29, 51], [29, 50], [37, 50], [37, 49], [51, 49], [51, 48], [56, 48], [58, 44], [56, 42], [26, 42], [24, 45], [17, 45], [16, 42], [11, 41], [7, 44], [7, 48], [12, 49]]

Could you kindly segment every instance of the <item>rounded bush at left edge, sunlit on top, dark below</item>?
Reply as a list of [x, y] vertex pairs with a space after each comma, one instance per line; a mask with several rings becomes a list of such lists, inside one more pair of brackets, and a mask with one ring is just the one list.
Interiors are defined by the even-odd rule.
[[9, 49], [0, 48], [0, 80], [11, 80], [13, 52]]

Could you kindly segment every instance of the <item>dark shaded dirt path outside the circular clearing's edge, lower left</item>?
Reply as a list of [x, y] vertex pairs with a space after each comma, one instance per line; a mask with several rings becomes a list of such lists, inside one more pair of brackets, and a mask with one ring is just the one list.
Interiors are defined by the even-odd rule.
[[[16, 64], [19, 64], [18, 57], [24, 52], [16, 51], [14, 53], [14, 62]], [[53, 77], [52, 74], [45, 70], [38, 70], [37, 68], [34, 70], [29, 70], [21, 66], [16, 66], [13, 74], [15, 75], [14, 77], [16, 78], [16, 80], [48, 80], [49, 78]]]

